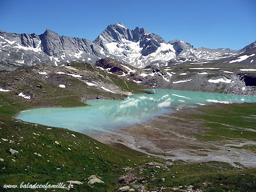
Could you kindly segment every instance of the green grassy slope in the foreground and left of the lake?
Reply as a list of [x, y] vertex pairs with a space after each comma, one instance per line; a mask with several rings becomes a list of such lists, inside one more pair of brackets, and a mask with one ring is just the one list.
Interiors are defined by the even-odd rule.
[[[111, 78], [116, 79], [115, 77]], [[125, 89], [121, 80], [116, 79], [116, 82], [117, 84], [120, 83], [119, 85]], [[80, 82], [75, 80], [74, 83]], [[135, 86], [135, 88], [138, 87]], [[145, 163], [164, 162], [164, 160], [155, 157], [148, 158], [144, 154], [130, 149], [126, 150], [128, 152], [114, 150], [86, 135], [67, 129], [35, 125], [16, 121], [12, 118], [19, 111], [41, 106], [68, 107], [84, 105], [80, 97], [76, 97], [80, 95], [79, 92], [75, 90], [69, 92], [61, 88], [52, 92], [52, 89], [56, 88], [53, 85], [44, 84], [44, 90], [52, 95], [49, 98], [44, 96], [45, 98], [31, 101], [13, 97], [10, 93], [0, 94], [0, 138], [8, 139], [8, 141], [0, 139], [0, 158], [4, 159], [4, 162], [0, 162], [1, 187], [3, 187], [3, 184], [20, 184], [23, 181], [33, 184], [35, 182], [56, 184], [58, 182], [66, 183], [67, 180], [78, 180], [86, 183], [87, 181], [84, 181], [84, 179], [97, 174], [102, 177], [105, 184], [95, 184], [93, 188], [88, 184], [83, 184], [75, 186], [74, 191], [117, 191], [118, 187], [123, 186], [123, 184], [120, 185], [117, 182], [117, 178], [125, 174], [121, 167], [128, 166], [134, 167], [131, 173], [139, 177], [137, 184], [146, 185], [152, 190], [159, 186], [182, 185], [184, 187], [184, 185], [189, 184], [193, 184], [195, 188], [207, 188], [207, 191], [226, 191], [227, 187], [233, 188], [234, 191], [253, 191], [256, 188], [255, 182], [253, 182], [255, 181], [255, 169], [223, 171], [223, 168], [232, 169], [232, 167], [218, 162], [212, 164], [222, 168], [212, 167], [212, 164], [209, 163], [200, 165], [202, 168], [199, 168], [198, 164], [179, 162], [167, 166], [167, 169], [163, 167], [156, 168]], [[90, 95], [95, 94], [94, 92], [95, 90], [87, 90], [86, 93], [82, 94]], [[102, 93], [97, 92], [96, 94]], [[113, 97], [113, 94], [106, 96]], [[51, 130], [47, 130], [49, 128]], [[74, 134], [75, 137], [71, 134]], [[59, 142], [60, 145], [56, 144], [55, 141]], [[9, 152], [10, 148], [17, 150], [19, 153], [11, 154]], [[125, 147], [121, 146], [120, 148]], [[41, 156], [39, 157], [34, 153]], [[156, 171], [154, 178], [151, 174], [153, 171]], [[242, 176], [242, 174], [245, 175]], [[175, 178], [173, 178], [174, 175]], [[165, 178], [165, 182], [160, 181], [162, 177]], [[234, 178], [234, 180], [231, 181], [231, 178]], [[147, 184], [145, 184], [145, 180], [148, 181]], [[206, 182], [206, 185], [203, 182]], [[5, 191], [3, 188], [0, 188], [0, 190]], [[7, 189], [6, 191], [17, 190]], [[18, 191], [29, 190], [19, 189]], [[57, 189], [56, 191], [62, 190]], [[166, 189], [166, 191], [170, 191], [170, 189]]]

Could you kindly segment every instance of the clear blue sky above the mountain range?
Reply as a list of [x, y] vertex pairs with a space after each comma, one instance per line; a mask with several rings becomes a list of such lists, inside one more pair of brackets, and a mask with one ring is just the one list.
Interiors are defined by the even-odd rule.
[[255, 0], [9, 1], [1, 0], [0, 30], [94, 40], [108, 25], [144, 28], [195, 48], [241, 49], [256, 40]]

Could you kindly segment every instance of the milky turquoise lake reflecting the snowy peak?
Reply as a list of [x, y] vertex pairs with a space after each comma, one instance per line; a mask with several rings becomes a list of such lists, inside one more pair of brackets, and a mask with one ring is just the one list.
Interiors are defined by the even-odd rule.
[[198, 104], [256, 102], [254, 96], [178, 90], [151, 91], [155, 94], [131, 95], [124, 100], [91, 100], [86, 102], [90, 106], [79, 108], [32, 109], [20, 112], [16, 118], [90, 134], [154, 120], [156, 116], [176, 112], [181, 108], [195, 108]]

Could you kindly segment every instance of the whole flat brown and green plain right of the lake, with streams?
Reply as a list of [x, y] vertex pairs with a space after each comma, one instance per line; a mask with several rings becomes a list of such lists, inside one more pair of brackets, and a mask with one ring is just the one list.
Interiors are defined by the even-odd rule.
[[[223, 161], [235, 167], [256, 167], [255, 107], [219, 104], [182, 109], [115, 133], [92, 137], [110, 146], [121, 143], [165, 159]], [[216, 114], [217, 111], [222, 112]]]

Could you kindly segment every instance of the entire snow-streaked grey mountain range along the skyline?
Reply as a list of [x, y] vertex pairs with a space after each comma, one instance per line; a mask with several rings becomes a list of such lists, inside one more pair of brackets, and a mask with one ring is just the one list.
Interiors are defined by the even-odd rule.
[[136, 68], [171, 66], [186, 61], [208, 61], [236, 56], [256, 47], [256, 41], [241, 50], [194, 48], [188, 42], [166, 42], [143, 28], [127, 29], [121, 23], [109, 25], [94, 41], [43, 34], [0, 31], [0, 70], [47, 64], [62, 66], [72, 61], [95, 63], [114, 58]]

